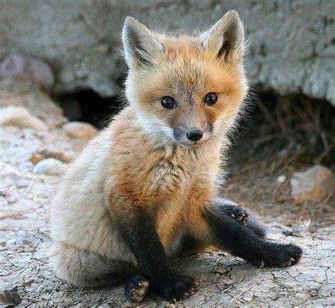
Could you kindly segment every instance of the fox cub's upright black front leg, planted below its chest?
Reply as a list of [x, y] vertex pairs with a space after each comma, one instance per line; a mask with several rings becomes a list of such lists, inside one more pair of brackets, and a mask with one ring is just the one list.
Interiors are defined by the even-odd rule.
[[192, 294], [194, 279], [169, 265], [150, 211], [143, 206], [133, 206], [117, 211], [116, 215], [119, 232], [136, 258], [139, 273], [148, 278], [149, 290], [166, 300], [180, 300]]

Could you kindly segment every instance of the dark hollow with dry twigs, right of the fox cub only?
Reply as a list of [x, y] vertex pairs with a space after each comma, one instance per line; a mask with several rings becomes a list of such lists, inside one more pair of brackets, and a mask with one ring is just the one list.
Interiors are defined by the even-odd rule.
[[239, 128], [240, 160], [266, 160], [285, 151], [302, 169], [315, 164], [335, 169], [335, 107], [305, 95], [263, 92], [254, 97]]

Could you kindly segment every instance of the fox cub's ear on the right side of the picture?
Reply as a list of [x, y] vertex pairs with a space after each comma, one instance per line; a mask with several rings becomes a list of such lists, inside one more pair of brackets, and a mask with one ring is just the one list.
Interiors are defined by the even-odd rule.
[[225, 61], [239, 62], [245, 49], [245, 34], [237, 11], [229, 11], [211, 29], [201, 34], [205, 52]]

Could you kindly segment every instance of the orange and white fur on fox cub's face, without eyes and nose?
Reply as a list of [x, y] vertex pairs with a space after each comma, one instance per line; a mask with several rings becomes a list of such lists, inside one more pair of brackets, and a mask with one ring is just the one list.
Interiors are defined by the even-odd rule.
[[[223, 30], [229, 30], [225, 25], [229, 21], [232, 22], [229, 18], [222, 21]], [[216, 32], [219, 28], [216, 25]], [[234, 29], [231, 31], [237, 31]], [[143, 43], [141, 49], [160, 48], [152, 54], [147, 53], [143, 62], [139, 57], [139, 65], [129, 64], [126, 94], [131, 105], [138, 110], [139, 122], [150, 133], [160, 131], [160, 138], [165, 136], [173, 140], [176, 139], [176, 129], [183, 133], [201, 129], [205, 132], [199, 141], [201, 143], [211, 136], [222, 136], [233, 126], [247, 93], [242, 59], [236, 55], [242, 57], [243, 47], [235, 42], [230, 53], [216, 50], [215, 43], [219, 40], [216, 36], [224, 35], [216, 32], [212, 30], [200, 37], [171, 37], [148, 32], [150, 40], [146, 42], [149, 47]], [[240, 33], [237, 31], [236, 35]], [[150, 45], [151, 40], [155, 41], [155, 46]], [[218, 95], [215, 105], [204, 104], [207, 93]], [[162, 97], [166, 96], [175, 100], [174, 109], [167, 110], [160, 105]]]

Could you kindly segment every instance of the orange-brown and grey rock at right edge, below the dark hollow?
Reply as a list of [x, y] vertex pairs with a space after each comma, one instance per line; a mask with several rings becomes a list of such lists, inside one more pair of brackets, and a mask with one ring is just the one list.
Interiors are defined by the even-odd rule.
[[296, 200], [322, 200], [334, 194], [335, 179], [329, 168], [315, 165], [304, 172], [295, 172], [290, 179], [290, 186], [291, 195]]

